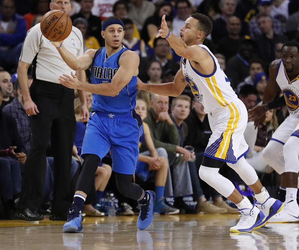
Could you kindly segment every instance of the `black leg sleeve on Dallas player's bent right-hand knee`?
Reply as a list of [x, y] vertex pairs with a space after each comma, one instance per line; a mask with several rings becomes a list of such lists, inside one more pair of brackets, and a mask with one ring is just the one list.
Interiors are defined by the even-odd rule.
[[132, 183], [133, 174], [115, 173], [117, 189], [119, 192], [131, 199], [138, 200], [143, 194], [143, 189], [135, 183]]

